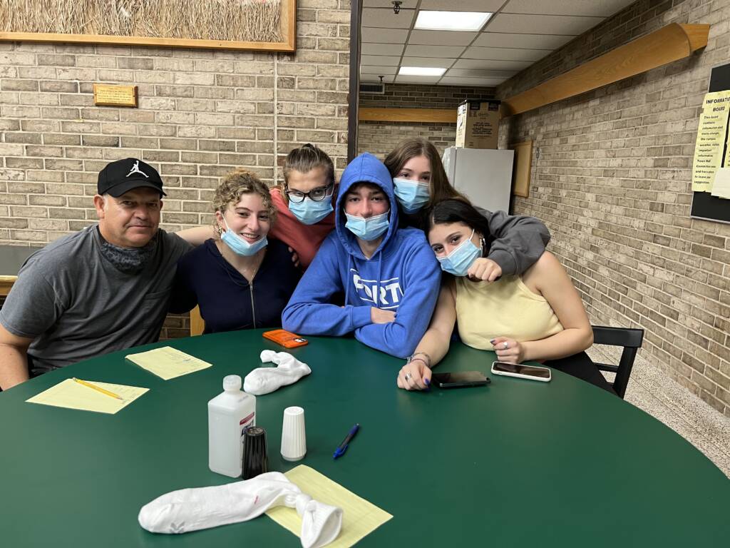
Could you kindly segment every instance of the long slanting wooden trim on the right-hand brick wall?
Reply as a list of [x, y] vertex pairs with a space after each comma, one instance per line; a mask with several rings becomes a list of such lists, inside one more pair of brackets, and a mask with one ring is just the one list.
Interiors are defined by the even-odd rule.
[[710, 25], [664, 26], [532, 89], [502, 99], [504, 115], [524, 113], [691, 56], [707, 45], [708, 34]]

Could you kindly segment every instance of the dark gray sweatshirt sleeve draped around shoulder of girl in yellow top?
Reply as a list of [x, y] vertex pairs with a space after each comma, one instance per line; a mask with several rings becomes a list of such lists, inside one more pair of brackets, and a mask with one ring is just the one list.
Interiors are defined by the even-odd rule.
[[520, 275], [534, 265], [550, 242], [550, 231], [538, 218], [507, 215], [504, 211], [477, 208], [489, 222], [495, 238], [488, 259], [502, 268], [502, 275]]

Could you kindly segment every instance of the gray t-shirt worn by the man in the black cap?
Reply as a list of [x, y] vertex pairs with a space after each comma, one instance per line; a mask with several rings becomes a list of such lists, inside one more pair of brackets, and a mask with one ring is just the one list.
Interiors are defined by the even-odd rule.
[[177, 259], [192, 246], [159, 230], [142, 272], [126, 274], [101, 254], [97, 226], [28, 257], [0, 310], [5, 329], [34, 339], [28, 348], [34, 373], [153, 343], [160, 335]]

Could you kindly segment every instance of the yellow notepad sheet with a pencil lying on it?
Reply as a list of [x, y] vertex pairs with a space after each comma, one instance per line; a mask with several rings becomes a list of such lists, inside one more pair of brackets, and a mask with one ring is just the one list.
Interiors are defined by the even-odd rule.
[[113, 415], [149, 390], [149, 388], [128, 387], [124, 384], [110, 384], [99, 381], [88, 382], [96, 387], [114, 392], [122, 399], [118, 400], [116, 397], [85, 387], [83, 384], [74, 381], [73, 378], [66, 378], [65, 381], [59, 382], [54, 387], [50, 387], [26, 401], [42, 403], [44, 406], [66, 407]]

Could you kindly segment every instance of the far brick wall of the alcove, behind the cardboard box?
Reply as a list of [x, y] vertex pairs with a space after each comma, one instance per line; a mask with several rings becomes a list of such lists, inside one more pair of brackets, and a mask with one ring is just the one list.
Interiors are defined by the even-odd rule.
[[[360, 107], [448, 108], [456, 112], [464, 99], [493, 99], [494, 88], [467, 88], [456, 85], [385, 84], [385, 94], [360, 94]], [[378, 158], [396, 148], [406, 137], [426, 137], [439, 153], [456, 141], [456, 123], [360, 122], [358, 152]]]

